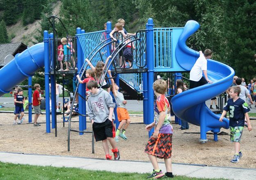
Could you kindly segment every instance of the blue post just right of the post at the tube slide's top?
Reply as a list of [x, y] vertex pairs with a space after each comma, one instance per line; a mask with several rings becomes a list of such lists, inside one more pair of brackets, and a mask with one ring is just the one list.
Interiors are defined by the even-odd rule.
[[[50, 33], [50, 38], [52, 39], [53, 38], [53, 33]], [[53, 51], [54, 51], [54, 46], [53, 46], [53, 42], [54, 40], [52, 39], [52, 40], [50, 40], [50, 47], [51, 47], [51, 49], [50, 49], [50, 65], [51, 65], [51, 67], [52, 68], [54, 68], [54, 53], [53, 53]], [[52, 129], [54, 129], [55, 128], [55, 121], [56, 121], [56, 116], [55, 116], [55, 114], [56, 114], [56, 80], [55, 80], [55, 76], [53, 75], [53, 74], [51, 74], [51, 98], [52, 98], [52, 100], [51, 100], [51, 102], [52, 102]], [[49, 86], [49, 84], [47, 85], [47, 86]], [[46, 88], [46, 87], [45, 87]], [[45, 102], [46, 102], [46, 100], [45, 100]], [[45, 104], [46, 105], [46, 104]]]

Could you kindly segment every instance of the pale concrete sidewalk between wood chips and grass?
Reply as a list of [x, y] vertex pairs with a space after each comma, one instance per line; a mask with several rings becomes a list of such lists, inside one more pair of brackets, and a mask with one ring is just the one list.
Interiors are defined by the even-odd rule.
[[[54, 167], [77, 167], [88, 170], [106, 170], [113, 172], [150, 173], [152, 171], [152, 165], [150, 162], [122, 160], [115, 161], [67, 156], [45, 156], [0, 152], [0, 161], [11, 162], [15, 164], [30, 164]], [[160, 169], [165, 171], [164, 163], [159, 163], [159, 165]], [[226, 178], [231, 180], [256, 179], [256, 169], [206, 167], [186, 164], [173, 164], [172, 169], [174, 175], [196, 178]]]

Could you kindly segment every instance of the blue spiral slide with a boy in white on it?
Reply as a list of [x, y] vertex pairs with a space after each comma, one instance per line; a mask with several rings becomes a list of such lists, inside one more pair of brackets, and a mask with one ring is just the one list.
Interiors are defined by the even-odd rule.
[[[198, 22], [193, 20], [188, 21], [175, 49], [177, 62], [186, 71], [191, 70], [199, 57], [199, 52], [186, 46], [186, 40], [197, 29], [199, 29]], [[171, 100], [172, 109], [177, 117], [200, 126], [200, 140], [202, 142], [207, 141], [207, 131], [212, 131], [214, 133], [214, 140], [217, 141], [217, 133], [220, 132], [220, 128], [229, 128], [229, 120], [224, 118], [223, 122], [220, 122], [220, 115], [210, 111], [205, 101], [226, 91], [233, 81], [235, 72], [226, 64], [209, 59], [207, 60], [207, 74], [208, 78], [213, 81], [213, 84], [208, 83], [182, 92], [174, 96]]]

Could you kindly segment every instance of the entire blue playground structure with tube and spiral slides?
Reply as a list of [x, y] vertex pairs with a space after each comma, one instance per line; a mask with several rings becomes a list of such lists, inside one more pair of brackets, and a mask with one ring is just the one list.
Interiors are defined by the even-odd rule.
[[[126, 73], [135, 73], [134, 77], [136, 78], [133, 79], [133, 82], [136, 83], [129, 84], [129, 78], [131, 76], [126, 79], [127, 84], [133, 86], [134, 89], [138, 89], [139, 82], [143, 80], [143, 109], [146, 110], [144, 111], [143, 119], [145, 124], [150, 124], [154, 120], [154, 91], [152, 89], [154, 73], [179, 72], [176, 73], [176, 78], [181, 78], [181, 72], [190, 71], [199, 57], [199, 53], [188, 48], [186, 46], [186, 40], [195, 33], [198, 28], [199, 24], [195, 21], [188, 21], [184, 28], [154, 28], [153, 20], [150, 18], [146, 28], [138, 31], [136, 36], [131, 37], [131, 41], [136, 45], [133, 69], [125, 68], [123, 66], [125, 63], [124, 60], [119, 64], [116, 64], [114, 61], [115, 58], [120, 58], [119, 53], [127, 44], [123, 44], [125, 40], [117, 42], [115, 45], [116, 49], [111, 53], [111, 44], [113, 44], [113, 40], [109, 37], [111, 22], [107, 22], [106, 31], [85, 33], [84, 30], [77, 28], [77, 34], [74, 40], [76, 42], [78, 74], [82, 77], [88, 68], [88, 64], [84, 63], [85, 58], [88, 58], [95, 64], [97, 60], [104, 61], [107, 56], [112, 54], [111, 60], [105, 63], [104, 73], [101, 79], [103, 80], [106, 77], [106, 71], [111, 69], [117, 84], [119, 78], [125, 80], [127, 77]], [[55, 30], [55, 28], [53, 29]], [[106, 33], [105, 40], [101, 40], [102, 33]], [[56, 74], [59, 73], [56, 72], [56, 39], [55, 31], [51, 34], [45, 31], [43, 43], [36, 44], [23, 53], [17, 54], [14, 60], [0, 70], [0, 75], [6, 76], [6, 78], [0, 82], [0, 96], [2, 96], [4, 93], [9, 93], [10, 89], [27, 77], [33, 76], [33, 73], [37, 69], [45, 67], [47, 133], [50, 133], [50, 89], [48, 85], [50, 77], [51, 87], [53, 87], [51, 89], [52, 109], [56, 109], [54, 108], [56, 107], [56, 103], [54, 102], [54, 87]], [[10, 72], [12, 72], [11, 76]], [[73, 74], [75, 71], [71, 69], [66, 73]], [[121, 75], [119, 76], [119, 74]], [[205, 101], [228, 89], [232, 82], [233, 75], [233, 69], [227, 65], [214, 60], [208, 60], [208, 78], [214, 83], [183, 92], [174, 96], [171, 100], [173, 111], [177, 117], [200, 126], [200, 138], [202, 141], [206, 141], [207, 131], [212, 131], [214, 133], [214, 140], [217, 141], [217, 133], [220, 131], [220, 128], [229, 128], [228, 120], [224, 119], [223, 122], [219, 122], [219, 116], [212, 113], [208, 107], [206, 107]], [[85, 84], [77, 84], [75, 94], [76, 93], [79, 94], [79, 130], [74, 131], [82, 135], [84, 132], [87, 132], [84, 131], [86, 129]], [[193, 99], [191, 97], [197, 98]], [[71, 119], [70, 113], [68, 143], [70, 140]], [[56, 122], [56, 112], [52, 111], [52, 128], [55, 128], [55, 130], [57, 129]], [[152, 131], [150, 131], [150, 134]]]

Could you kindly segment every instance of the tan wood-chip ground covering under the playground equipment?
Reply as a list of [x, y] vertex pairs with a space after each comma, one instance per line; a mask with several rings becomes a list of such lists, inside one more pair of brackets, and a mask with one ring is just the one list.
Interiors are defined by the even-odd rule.
[[[0, 151], [17, 153], [36, 153], [62, 156], [81, 156], [92, 158], [104, 158], [104, 151], [101, 142], [95, 142], [95, 154], [91, 152], [91, 133], [79, 136], [78, 133], [71, 132], [70, 152], [67, 151], [68, 123], [63, 127], [61, 116], [58, 116], [57, 130], [58, 137], [55, 137], [54, 129], [51, 133], [45, 133], [45, 124], [41, 127], [34, 127], [33, 124], [12, 125], [14, 115], [11, 113], [0, 114]], [[25, 123], [27, 115], [25, 115]], [[78, 120], [78, 117], [72, 120]], [[143, 122], [143, 117], [131, 115], [131, 121]], [[39, 122], [45, 122], [45, 116], [39, 117]], [[78, 122], [72, 123], [72, 129], [78, 129]], [[91, 130], [91, 123], [87, 124]], [[207, 164], [213, 166], [256, 168], [256, 134], [255, 130], [243, 132], [241, 146], [243, 157], [239, 163], [233, 164], [230, 159], [233, 156], [234, 147], [229, 142], [229, 136], [218, 136], [219, 141], [213, 141], [213, 135], [207, 135], [209, 141], [206, 144], [199, 143], [199, 134], [189, 132], [199, 132], [199, 127], [190, 124], [189, 130], [177, 130], [178, 124], [173, 124], [173, 146], [172, 161], [179, 163]], [[252, 120], [252, 127], [256, 128], [256, 121]], [[229, 133], [228, 129], [222, 129]], [[188, 132], [188, 133], [184, 133]], [[148, 140], [145, 124], [131, 124], [127, 129], [128, 140], [118, 142], [122, 160], [149, 161], [144, 153], [145, 144]]]

